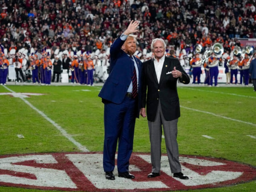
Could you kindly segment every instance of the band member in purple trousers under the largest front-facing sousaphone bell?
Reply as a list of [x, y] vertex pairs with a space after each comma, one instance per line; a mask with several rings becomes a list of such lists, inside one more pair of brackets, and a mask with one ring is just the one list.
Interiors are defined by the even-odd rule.
[[221, 61], [221, 58], [217, 58], [217, 56], [214, 53], [212, 53], [212, 55], [208, 59], [208, 66], [210, 69], [210, 86], [213, 86], [213, 78], [214, 86], [218, 86], [219, 61]]

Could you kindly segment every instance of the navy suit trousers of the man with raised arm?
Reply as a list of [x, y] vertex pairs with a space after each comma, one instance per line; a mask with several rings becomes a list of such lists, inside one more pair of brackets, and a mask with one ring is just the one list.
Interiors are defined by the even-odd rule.
[[129, 171], [129, 159], [133, 151], [134, 126], [137, 100], [125, 97], [121, 104], [104, 102], [104, 171], [115, 168], [115, 154], [118, 142], [117, 171]]

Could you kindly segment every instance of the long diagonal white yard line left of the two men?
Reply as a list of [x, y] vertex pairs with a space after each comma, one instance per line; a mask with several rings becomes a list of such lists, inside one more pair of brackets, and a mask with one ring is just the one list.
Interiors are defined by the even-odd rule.
[[[4, 86], [7, 90], [11, 91], [12, 93], [15, 93], [14, 91], [12, 91], [11, 89], [9, 89], [8, 87]], [[47, 121], [49, 121], [53, 126], [55, 126], [57, 128], [57, 130], [59, 130], [62, 135], [64, 137], [66, 137], [67, 139], [69, 139], [69, 141], [71, 141], [75, 146], [78, 147], [79, 150], [81, 150], [82, 152], [89, 152], [89, 150], [85, 147], [82, 146], [81, 143], [77, 142], [75, 139], [72, 138], [72, 136], [70, 136], [66, 130], [64, 130], [61, 126], [58, 125], [58, 123], [55, 123], [53, 120], [51, 120], [49, 117], [46, 116], [46, 114], [44, 114], [42, 111], [40, 111], [39, 109], [37, 109], [36, 107], [34, 107], [30, 102], [28, 102], [26, 99], [20, 97], [22, 101], [24, 101], [28, 106], [30, 106], [32, 109], [34, 109], [37, 113], [39, 113], [43, 118], [45, 118]]]

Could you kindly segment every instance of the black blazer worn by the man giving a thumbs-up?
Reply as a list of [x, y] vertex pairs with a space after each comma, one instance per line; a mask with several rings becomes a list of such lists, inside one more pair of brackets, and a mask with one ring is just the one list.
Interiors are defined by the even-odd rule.
[[165, 57], [159, 84], [155, 73], [154, 60], [143, 62], [142, 108], [145, 108], [147, 104], [147, 119], [149, 121], [155, 120], [159, 99], [165, 120], [170, 121], [180, 117], [180, 103], [177, 92], [178, 78], [174, 78], [171, 73], [166, 74], [171, 72], [174, 66], [176, 70], [182, 73], [182, 77], [179, 77], [180, 82], [188, 84], [190, 78], [176, 58]]

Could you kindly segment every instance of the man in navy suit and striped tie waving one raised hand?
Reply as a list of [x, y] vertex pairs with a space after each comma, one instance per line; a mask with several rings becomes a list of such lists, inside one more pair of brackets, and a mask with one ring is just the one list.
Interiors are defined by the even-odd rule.
[[118, 177], [133, 179], [129, 159], [133, 151], [136, 117], [141, 108], [142, 62], [133, 56], [138, 21], [131, 21], [123, 34], [110, 47], [110, 74], [99, 97], [104, 103], [103, 168], [106, 179], [114, 180], [115, 154], [118, 142]]

